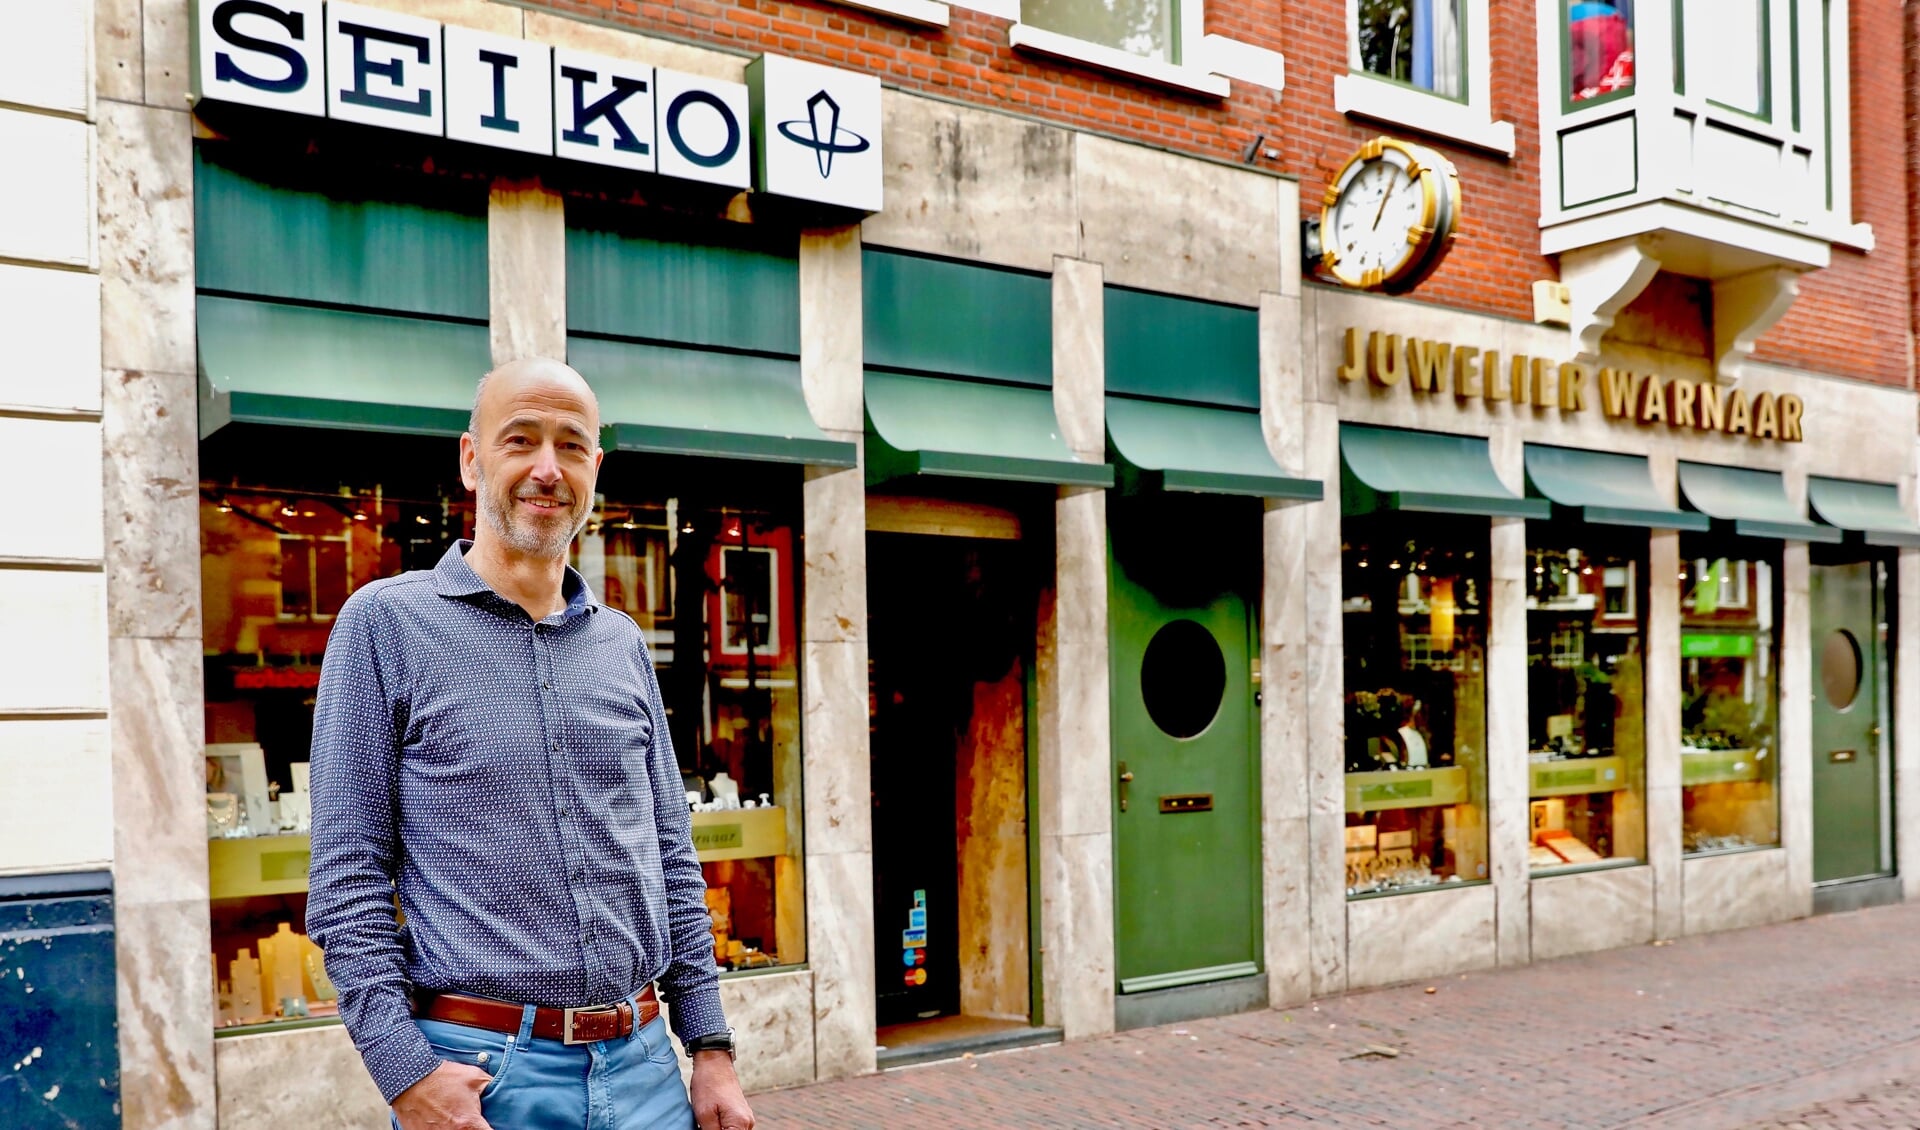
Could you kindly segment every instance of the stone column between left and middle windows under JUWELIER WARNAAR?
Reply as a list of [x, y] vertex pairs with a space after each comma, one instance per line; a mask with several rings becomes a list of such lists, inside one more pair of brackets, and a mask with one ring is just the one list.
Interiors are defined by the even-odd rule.
[[[1490, 437], [1494, 468], [1521, 493], [1526, 468], [1519, 428]], [[1494, 938], [1501, 965], [1532, 959], [1532, 838], [1526, 764], [1526, 520], [1494, 518], [1488, 531], [1486, 633], [1486, 850], [1494, 881]]]

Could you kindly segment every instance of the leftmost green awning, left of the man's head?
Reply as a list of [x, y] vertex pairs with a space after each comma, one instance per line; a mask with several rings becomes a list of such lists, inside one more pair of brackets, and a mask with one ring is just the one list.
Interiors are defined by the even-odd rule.
[[488, 328], [200, 295], [200, 436], [230, 422], [459, 436]]

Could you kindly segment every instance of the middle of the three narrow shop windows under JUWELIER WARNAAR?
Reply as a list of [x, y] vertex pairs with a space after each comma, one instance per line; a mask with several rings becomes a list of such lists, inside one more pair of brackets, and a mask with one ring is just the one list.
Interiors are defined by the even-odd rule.
[[[1528, 528], [1530, 863], [1576, 869], [1645, 854], [1645, 539]], [[1638, 545], [1628, 545], [1628, 539]], [[1567, 545], [1580, 541], [1580, 545]]]

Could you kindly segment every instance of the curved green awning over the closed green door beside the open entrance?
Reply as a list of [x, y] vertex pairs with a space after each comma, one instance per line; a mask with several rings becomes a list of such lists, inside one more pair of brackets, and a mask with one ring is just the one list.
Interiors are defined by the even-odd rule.
[[1325, 487], [1281, 470], [1260, 412], [1106, 397], [1106, 441], [1127, 491], [1194, 491], [1317, 503]]

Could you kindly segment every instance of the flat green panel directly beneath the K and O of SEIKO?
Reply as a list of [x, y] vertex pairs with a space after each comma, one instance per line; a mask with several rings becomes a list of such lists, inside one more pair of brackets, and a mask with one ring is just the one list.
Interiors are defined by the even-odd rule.
[[676, 244], [568, 224], [566, 328], [799, 357], [799, 246]]

